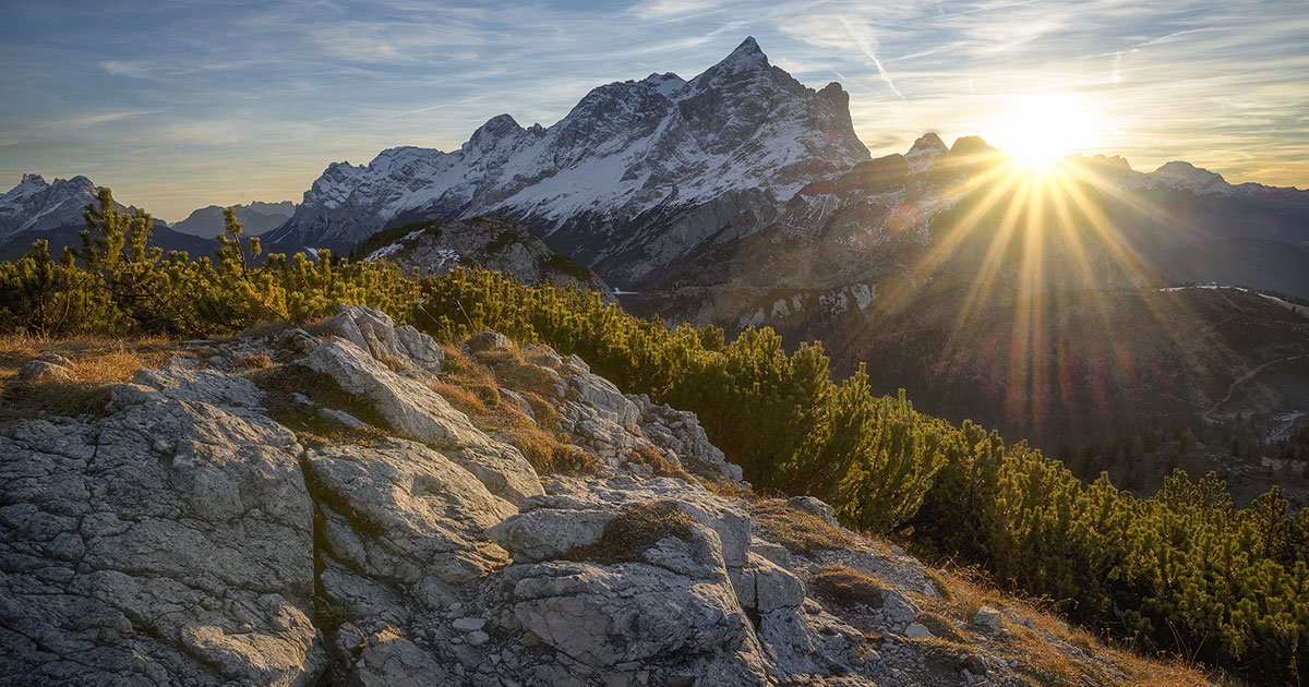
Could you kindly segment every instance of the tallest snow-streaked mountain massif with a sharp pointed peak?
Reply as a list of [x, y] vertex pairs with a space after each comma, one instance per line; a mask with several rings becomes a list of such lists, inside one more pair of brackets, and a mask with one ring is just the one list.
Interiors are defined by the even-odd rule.
[[839, 84], [813, 90], [753, 38], [686, 81], [600, 86], [551, 127], [509, 115], [458, 150], [332, 164], [268, 234], [346, 249], [427, 217], [517, 220], [619, 285], [706, 241], [762, 228], [806, 183], [869, 158]]

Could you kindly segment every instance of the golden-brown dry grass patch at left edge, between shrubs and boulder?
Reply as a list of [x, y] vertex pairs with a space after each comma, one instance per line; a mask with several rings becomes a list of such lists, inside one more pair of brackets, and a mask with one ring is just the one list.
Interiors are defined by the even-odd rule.
[[[110, 386], [130, 381], [139, 369], [162, 365], [173, 351], [173, 342], [156, 336], [0, 336], [0, 423], [18, 421], [39, 412], [97, 414], [103, 410]], [[42, 353], [67, 357], [72, 378], [20, 381], [22, 364]]]

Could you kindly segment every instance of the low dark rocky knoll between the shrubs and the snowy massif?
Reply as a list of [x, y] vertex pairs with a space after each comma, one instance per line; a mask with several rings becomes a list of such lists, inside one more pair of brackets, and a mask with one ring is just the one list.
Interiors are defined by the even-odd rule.
[[560, 255], [520, 224], [493, 217], [428, 220], [378, 232], [359, 245], [364, 262], [386, 259], [406, 273], [442, 275], [480, 266], [524, 284], [575, 285], [613, 301], [613, 291], [585, 266]]

